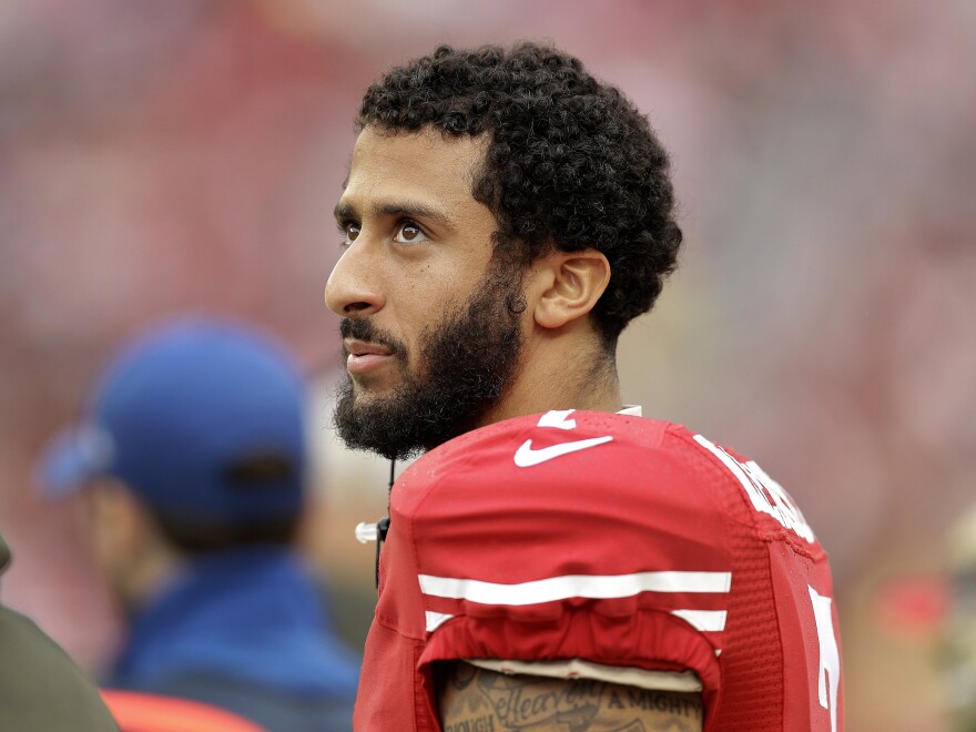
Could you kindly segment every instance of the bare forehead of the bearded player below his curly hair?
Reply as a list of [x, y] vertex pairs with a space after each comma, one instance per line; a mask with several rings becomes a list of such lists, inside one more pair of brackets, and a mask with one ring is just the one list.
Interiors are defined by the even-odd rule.
[[486, 150], [484, 136], [446, 136], [434, 128], [387, 132], [366, 126], [353, 149], [342, 203], [359, 207], [409, 199], [461, 211], [480, 206], [471, 185]]

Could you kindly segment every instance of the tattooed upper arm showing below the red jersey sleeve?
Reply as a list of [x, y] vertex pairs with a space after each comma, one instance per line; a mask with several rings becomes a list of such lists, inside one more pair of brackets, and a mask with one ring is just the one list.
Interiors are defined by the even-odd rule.
[[699, 732], [700, 694], [591, 679], [487, 671], [464, 662], [438, 673], [445, 732]]

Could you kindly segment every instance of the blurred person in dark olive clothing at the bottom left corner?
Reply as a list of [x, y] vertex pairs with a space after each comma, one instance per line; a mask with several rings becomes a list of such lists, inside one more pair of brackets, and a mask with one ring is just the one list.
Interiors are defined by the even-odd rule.
[[[10, 566], [0, 536], [0, 576]], [[118, 730], [99, 690], [28, 618], [0, 604], [0, 730]]]

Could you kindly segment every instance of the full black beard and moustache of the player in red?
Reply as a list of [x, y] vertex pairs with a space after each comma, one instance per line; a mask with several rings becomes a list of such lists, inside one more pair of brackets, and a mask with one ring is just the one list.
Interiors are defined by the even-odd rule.
[[520, 315], [526, 299], [521, 273], [499, 263], [467, 303], [448, 309], [419, 340], [419, 374], [408, 368], [405, 345], [368, 317], [345, 318], [344, 338], [388, 348], [399, 364], [400, 384], [392, 394], [357, 404], [346, 372], [337, 388], [336, 431], [352, 449], [405, 459], [474, 429], [504, 394], [521, 353]]

